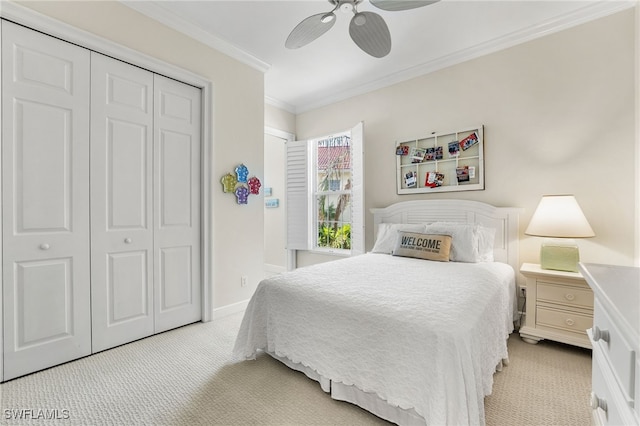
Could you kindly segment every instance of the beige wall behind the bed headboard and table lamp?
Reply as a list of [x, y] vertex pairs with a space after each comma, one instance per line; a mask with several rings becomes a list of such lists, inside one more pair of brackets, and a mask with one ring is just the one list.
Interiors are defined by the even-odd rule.
[[[296, 133], [305, 139], [364, 121], [368, 250], [369, 208], [462, 198], [524, 208], [520, 261], [538, 262], [541, 239], [524, 229], [541, 195], [570, 193], [597, 235], [578, 241], [582, 260], [632, 265], [639, 232], [634, 19], [626, 10], [299, 114]], [[484, 191], [396, 194], [396, 140], [476, 124], [485, 126]]]

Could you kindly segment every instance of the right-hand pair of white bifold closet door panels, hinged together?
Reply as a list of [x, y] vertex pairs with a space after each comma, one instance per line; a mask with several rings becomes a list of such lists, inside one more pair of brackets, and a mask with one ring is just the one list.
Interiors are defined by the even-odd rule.
[[93, 351], [201, 319], [200, 90], [92, 54]]

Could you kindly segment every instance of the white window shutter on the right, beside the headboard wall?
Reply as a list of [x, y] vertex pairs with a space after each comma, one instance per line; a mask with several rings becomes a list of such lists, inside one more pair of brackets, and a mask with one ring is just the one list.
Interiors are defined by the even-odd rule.
[[364, 253], [364, 125], [351, 129], [351, 255]]

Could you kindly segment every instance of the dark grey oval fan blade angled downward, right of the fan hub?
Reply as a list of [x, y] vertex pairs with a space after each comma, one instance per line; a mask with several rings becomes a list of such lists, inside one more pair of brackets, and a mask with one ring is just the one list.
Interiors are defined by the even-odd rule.
[[358, 12], [349, 24], [349, 35], [358, 47], [376, 58], [391, 52], [391, 34], [382, 16], [373, 12]]

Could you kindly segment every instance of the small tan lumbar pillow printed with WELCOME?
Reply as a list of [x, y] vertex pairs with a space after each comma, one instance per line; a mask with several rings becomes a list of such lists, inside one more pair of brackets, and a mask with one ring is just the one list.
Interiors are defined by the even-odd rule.
[[393, 255], [448, 262], [450, 249], [451, 236], [449, 235], [430, 235], [401, 231], [398, 232]]

